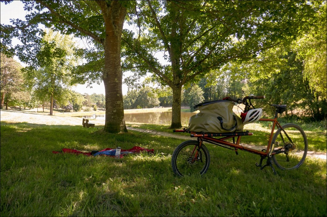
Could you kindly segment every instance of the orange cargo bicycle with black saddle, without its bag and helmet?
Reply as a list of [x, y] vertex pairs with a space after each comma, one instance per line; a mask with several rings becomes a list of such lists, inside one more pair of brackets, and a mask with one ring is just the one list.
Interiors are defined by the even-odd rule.
[[[232, 99], [227, 97], [234, 103], [244, 104], [244, 112], [255, 109], [251, 103], [251, 99], [263, 99], [265, 96], [246, 96], [243, 99]], [[226, 99], [226, 98], [225, 98]], [[272, 122], [271, 132], [268, 139], [267, 148], [261, 151], [243, 146], [240, 141], [242, 136], [251, 136], [253, 133], [249, 131], [240, 133], [198, 133], [191, 132], [188, 128], [182, 130], [173, 130], [173, 132], [190, 133], [190, 137], [197, 137], [197, 140], [188, 140], [182, 142], [174, 150], [171, 165], [173, 172], [178, 176], [200, 174], [207, 172], [210, 165], [210, 154], [203, 142], [208, 142], [227, 149], [234, 150], [236, 155], [238, 150], [251, 152], [260, 155], [259, 164], [255, 165], [263, 169], [266, 166], [272, 168], [273, 173], [277, 172], [273, 167], [273, 163], [282, 170], [291, 170], [299, 168], [306, 157], [308, 151], [308, 142], [303, 129], [293, 123], [281, 125], [277, 121], [278, 114], [286, 110], [286, 105], [271, 105], [276, 108], [275, 117], [271, 119], [260, 118], [259, 121]], [[275, 128], [277, 127], [276, 132]], [[220, 138], [215, 138], [220, 137]], [[235, 137], [237, 137], [235, 142]], [[232, 138], [231, 141], [226, 141]], [[262, 165], [264, 159], [267, 158], [265, 165]]]

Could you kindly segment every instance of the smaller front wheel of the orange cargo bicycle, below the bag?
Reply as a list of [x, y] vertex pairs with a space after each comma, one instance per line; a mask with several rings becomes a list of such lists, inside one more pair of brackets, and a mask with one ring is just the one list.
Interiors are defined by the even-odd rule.
[[197, 140], [182, 142], [171, 157], [171, 166], [178, 176], [202, 175], [207, 172], [210, 165], [210, 154], [203, 145]]

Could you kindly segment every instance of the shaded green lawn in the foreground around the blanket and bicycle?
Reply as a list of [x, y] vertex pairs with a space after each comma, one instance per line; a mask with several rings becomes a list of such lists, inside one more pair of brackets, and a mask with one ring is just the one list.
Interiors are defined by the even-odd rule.
[[[254, 164], [259, 156], [207, 145], [203, 177], [176, 177], [171, 154], [182, 139], [102, 127], [3, 123], [1, 216], [326, 216], [326, 161], [297, 170]], [[138, 136], [136, 136], [138, 135]], [[141, 146], [122, 159], [53, 154]]]

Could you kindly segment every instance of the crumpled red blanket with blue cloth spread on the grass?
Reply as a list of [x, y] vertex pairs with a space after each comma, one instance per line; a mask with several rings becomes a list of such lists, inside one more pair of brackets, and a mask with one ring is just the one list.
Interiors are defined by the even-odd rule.
[[[140, 153], [140, 152], [148, 152], [148, 153], [153, 154], [154, 150], [142, 148], [139, 146], [134, 146], [131, 149], [121, 149], [120, 150], [120, 158], [124, 157], [127, 154]], [[110, 157], [115, 157], [116, 149], [106, 148], [101, 151], [81, 152], [81, 151], [77, 151], [76, 149], [64, 148], [61, 150], [61, 152], [52, 151], [52, 153], [54, 153], [54, 154], [58, 154], [58, 153], [84, 154], [86, 156], [106, 155], [106, 156], [110, 156]]]

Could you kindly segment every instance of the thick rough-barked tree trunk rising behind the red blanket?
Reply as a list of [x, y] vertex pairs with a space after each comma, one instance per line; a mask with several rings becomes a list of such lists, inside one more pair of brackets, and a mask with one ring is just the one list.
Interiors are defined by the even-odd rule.
[[118, 1], [112, 1], [104, 14], [106, 39], [104, 41], [105, 66], [102, 79], [106, 93], [106, 120], [104, 130], [109, 133], [127, 132], [120, 63], [121, 34], [126, 15], [126, 8]]

